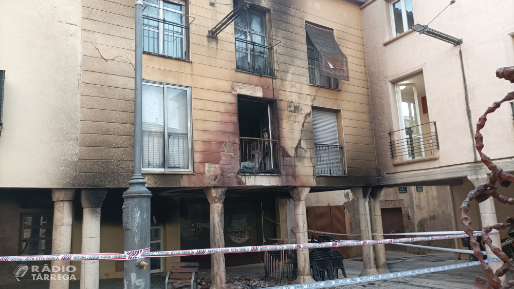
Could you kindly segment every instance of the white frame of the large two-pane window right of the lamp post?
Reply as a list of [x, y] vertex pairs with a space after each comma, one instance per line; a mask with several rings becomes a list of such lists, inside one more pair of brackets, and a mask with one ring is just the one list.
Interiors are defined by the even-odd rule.
[[[150, 82], [150, 81], [143, 81], [143, 85], [152, 85], [152, 86], [158, 86], [162, 87], [163, 90], [163, 99], [164, 99], [164, 168], [141, 168], [142, 171], [145, 172], [193, 172], [193, 125], [192, 125], [192, 100], [191, 100], [191, 87], [187, 86], [180, 86], [180, 85], [173, 85], [173, 84], [167, 84], [167, 83], [159, 83], [159, 82]], [[187, 90], [188, 92], [188, 146], [189, 146], [189, 152], [188, 152], [188, 158], [189, 158], [189, 167], [188, 168], [168, 168], [169, 163], [169, 145], [168, 145], [168, 114], [167, 114], [167, 93], [168, 93], [168, 87], [171, 88], [177, 88], [177, 89], [183, 89]], [[141, 150], [143, 149], [143, 146], [141, 146]], [[141, 152], [141, 158], [143, 158], [143, 153]], [[141, 162], [142, 163], [142, 162]], [[142, 166], [142, 165], [141, 165]]]

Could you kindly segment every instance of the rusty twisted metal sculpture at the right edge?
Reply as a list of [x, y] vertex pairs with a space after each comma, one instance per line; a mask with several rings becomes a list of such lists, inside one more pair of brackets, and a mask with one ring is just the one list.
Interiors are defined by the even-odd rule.
[[[496, 75], [500, 79], [505, 79], [514, 83], [514, 66], [500, 68], [496, 71]], [[473, 238], [473, 228], [471, 227], [471, 218], [466, 215], [469, 211], [469, 206], [473, 200], [481, 203], [488, 198], [494, 198], [503, 204], [514, 205], [514, 199], [500, 195], [498, 193], [497, 182], [500, 183], [503, 187], [508, 187], [512, 182], [514, 182], [514, 176], [510, 175], [508, 172], [503, 171], [502, 168], [497, 167], [491, 159], [482, 152], [484, 148], [484, 137], [480, 133], [480, 130], [484, 128], [484, 125], [487, 121], [487, 115], [489, 113], [497, 110], [500, 105], [504, 102], [514, 100], [514, 91], [509, 92], [501, 101], [494, 102], [489, 108], [487, 108], [486, 112], [480, 117], [479, 122], [476, 124], [476, 133], [475, 133], [475, 147], [476, 150], [480, 153], [480, 158], [482, 163], [484, 163], [487, 168], [491, 171], [491, 175], [489, 176], [489, 183], [482, 183], [477, 186], [474, 190], [471, 190], [467, 196], [467, 198], [462, 202], [461, 206], [461, 223], [465, 226], [465, 232], [470, 236], [471, 246], [473, 247], [473, 255], [480, 261], [482, 265], [482, 269], [484, 274], [487, 276], [488, 281], [482, 277], [475, 277], [475, 285], [473, 288], [476, 289], [503, 289], [503, 288], [511, 288], [514, 287], [514, 280], [510, 280], [504, 285], [502, 285], [500, 278], [505, 275], [508, 271], [514, 275], [514, 260], [507, 257], [505, 253], [502, 252], [501, 248], [495, 247], [492, 245], [492, 240], [489, 236], [489, 233], [493, 229], [501, 230], [509, 227], [514, 227], [514, 218], [509, 217], [503, 223], [498, 223], [492, 226], [486, 226], [482, 228], [482, 239], [484, 243], [489, 245], [492, 253], [498, 256], [504, 264], [496, 271], [493, 270], [484, 262], [484, 256], [480, 250], [480, 245]]]

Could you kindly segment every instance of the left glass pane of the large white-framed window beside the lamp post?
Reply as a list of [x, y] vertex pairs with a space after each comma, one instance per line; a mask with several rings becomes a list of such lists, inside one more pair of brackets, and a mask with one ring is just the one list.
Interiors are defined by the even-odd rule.
[[164, 168], [163, 88], [143, 84], [143, 168]]

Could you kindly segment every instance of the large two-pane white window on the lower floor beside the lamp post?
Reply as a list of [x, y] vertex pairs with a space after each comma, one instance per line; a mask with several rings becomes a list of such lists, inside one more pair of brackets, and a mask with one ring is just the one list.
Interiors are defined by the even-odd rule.
[[192, 172], [191, 88], [143, 83], [142, 92], [142, 168]]

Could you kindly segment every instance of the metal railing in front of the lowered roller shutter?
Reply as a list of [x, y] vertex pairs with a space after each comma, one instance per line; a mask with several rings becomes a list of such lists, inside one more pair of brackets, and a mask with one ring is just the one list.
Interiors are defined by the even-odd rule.
[[314, 144], [316, 175], [343, 176], [344, 151], [342, 145]]

